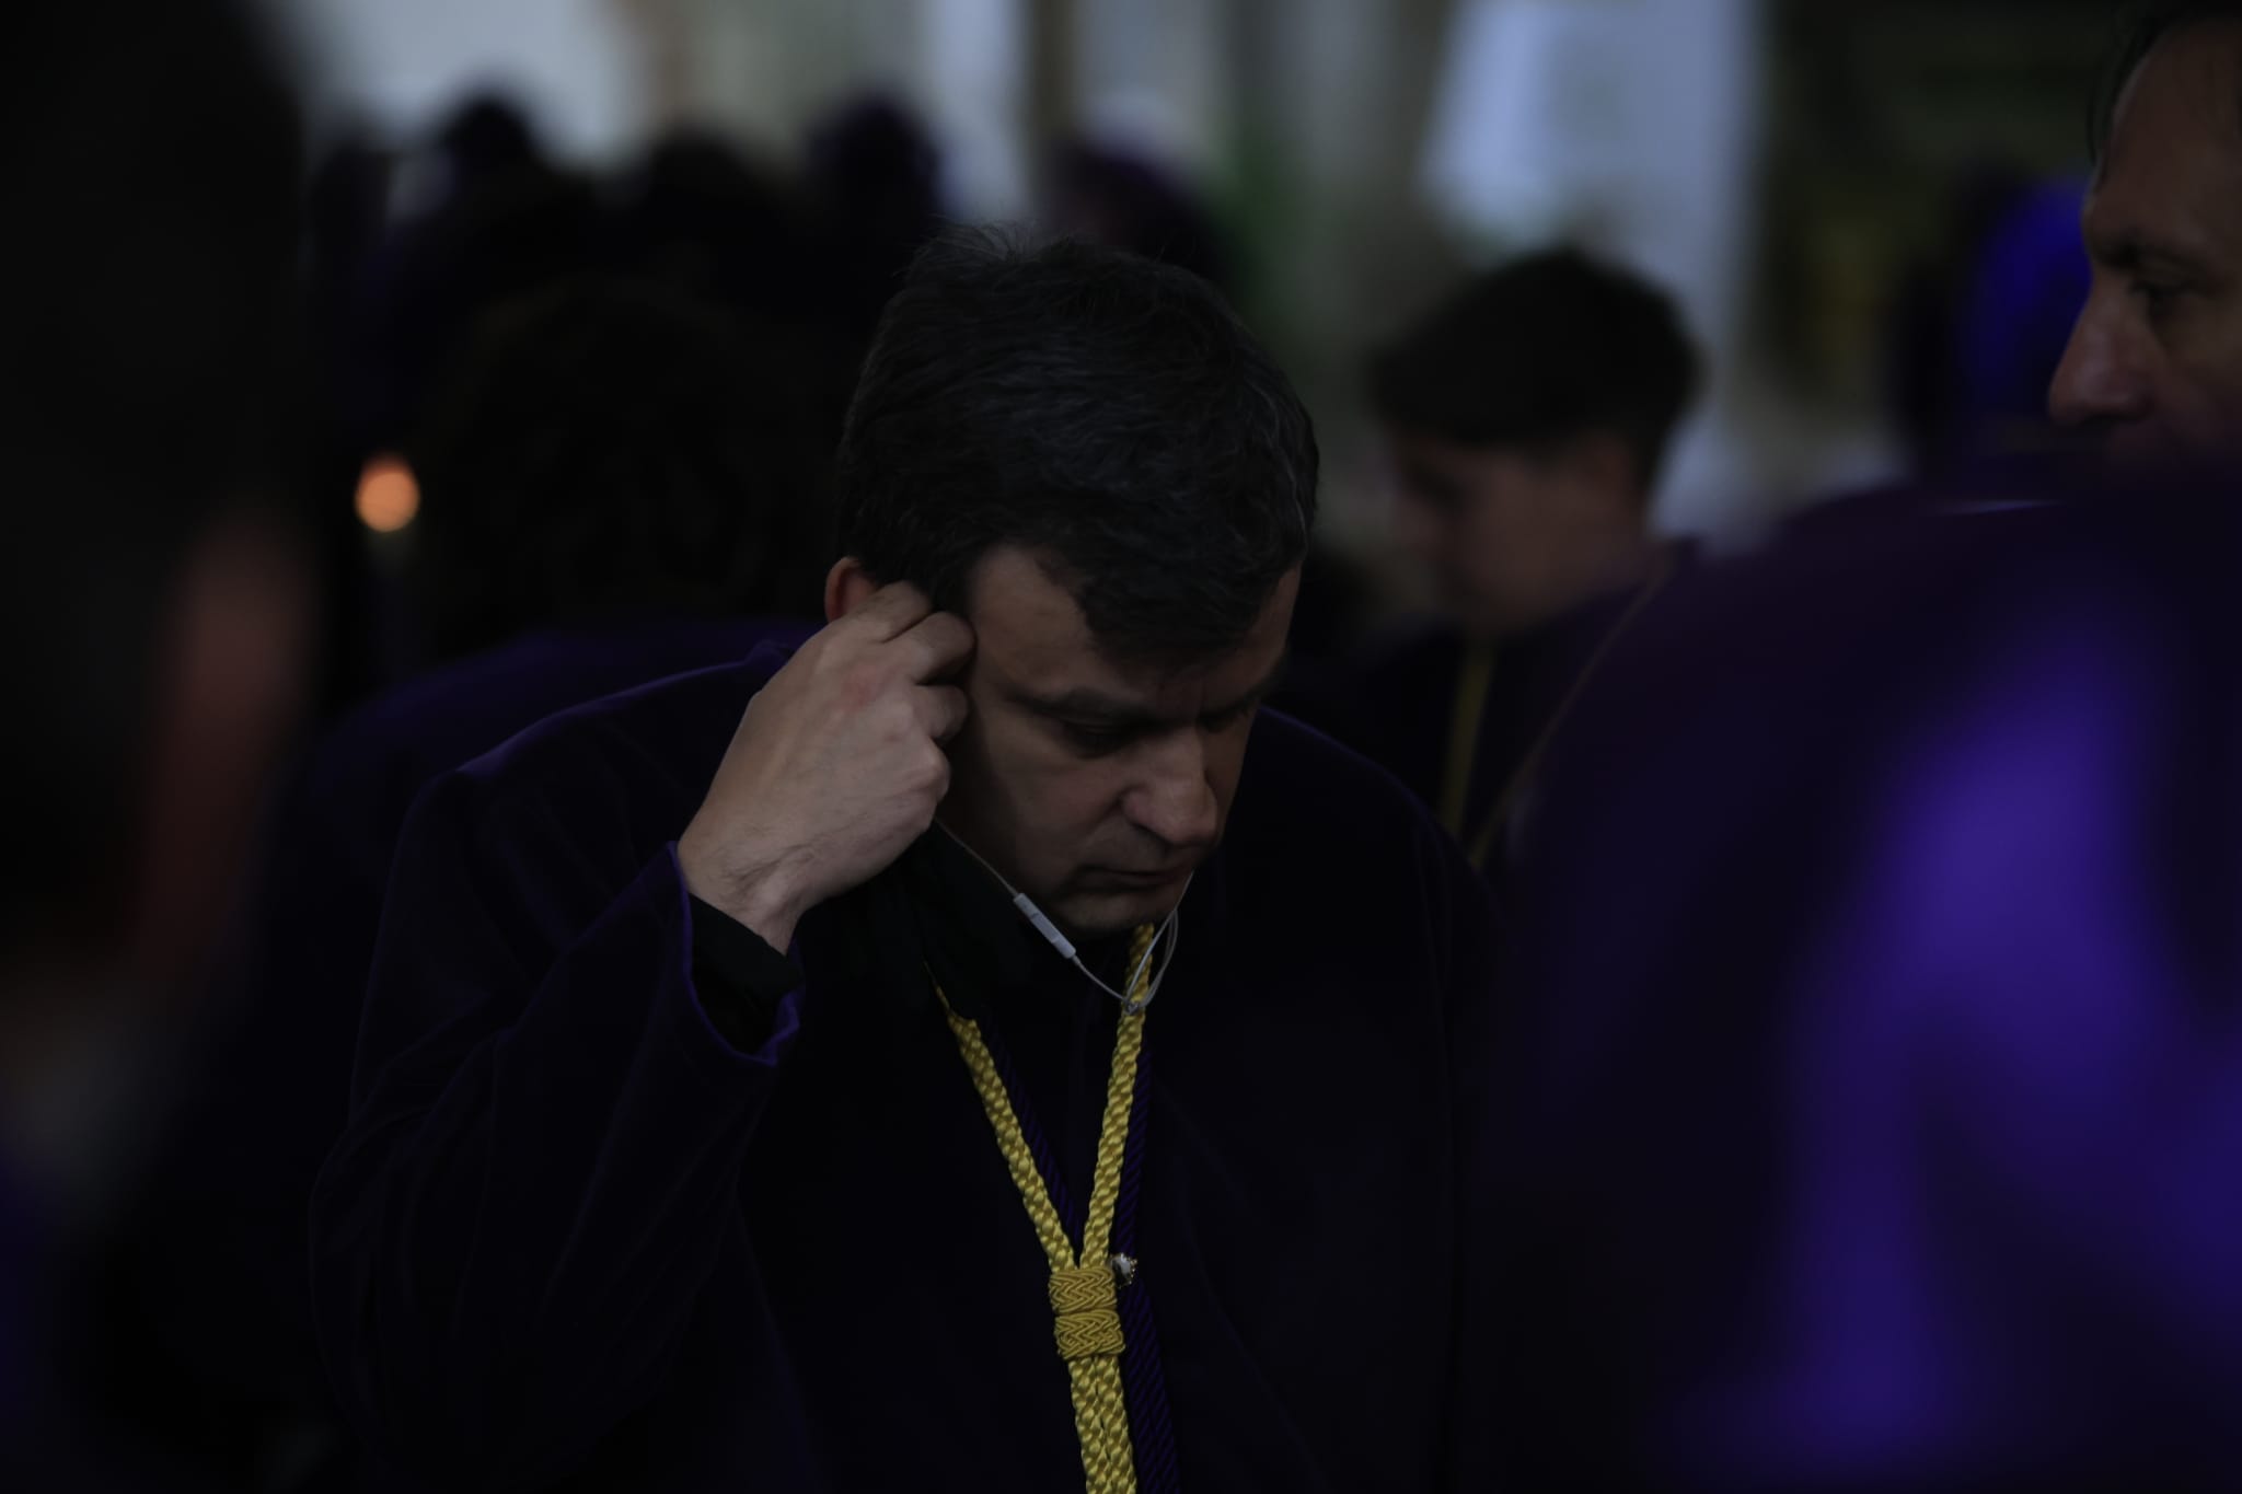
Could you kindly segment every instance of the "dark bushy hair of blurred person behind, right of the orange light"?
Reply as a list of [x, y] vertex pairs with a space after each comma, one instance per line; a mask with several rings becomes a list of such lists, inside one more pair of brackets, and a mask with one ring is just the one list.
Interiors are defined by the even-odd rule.
[[630, 278], [560, 280], [489, 311], [410, 443], [430, 652], [798, 607], [821, 495], [778, 349]]

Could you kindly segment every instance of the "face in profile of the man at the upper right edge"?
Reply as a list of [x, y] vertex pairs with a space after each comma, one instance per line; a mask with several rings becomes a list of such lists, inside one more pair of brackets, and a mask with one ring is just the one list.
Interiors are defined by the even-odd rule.
[[2242, 452], [2242, 22], [2166, 36], [2087, 197], [2094, 284], [2049, 390], [2121, 466]]

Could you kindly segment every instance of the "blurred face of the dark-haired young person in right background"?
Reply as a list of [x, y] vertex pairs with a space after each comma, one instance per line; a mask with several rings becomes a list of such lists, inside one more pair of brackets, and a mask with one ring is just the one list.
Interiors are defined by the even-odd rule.
[[1641, 560], [1643, 495], [1616, 439], [1542, 455], [1390, 430], [1388, 452], [1401, 542], [1475, 638], [1547, 623]]

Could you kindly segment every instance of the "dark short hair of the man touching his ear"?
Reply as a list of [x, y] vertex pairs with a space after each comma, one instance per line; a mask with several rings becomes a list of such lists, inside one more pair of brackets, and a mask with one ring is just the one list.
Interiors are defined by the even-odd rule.
[[1316, 517], [1291, 383], [1197, 276], [1119, 249], [933, 242], [865, 358], [839, 459], [841, 549], [962, 609], [1000, 544], [1054, 562], [1099, 645], [1235, 645]]

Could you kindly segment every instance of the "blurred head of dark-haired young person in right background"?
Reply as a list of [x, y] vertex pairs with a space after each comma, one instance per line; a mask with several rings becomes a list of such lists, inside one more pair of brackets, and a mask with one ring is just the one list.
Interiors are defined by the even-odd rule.
[[1372, 356], [1401, 535], [1466, 634], [1634, 580], [1695, 383], [1673, 302], [1576, 251], [1477, 276]]

